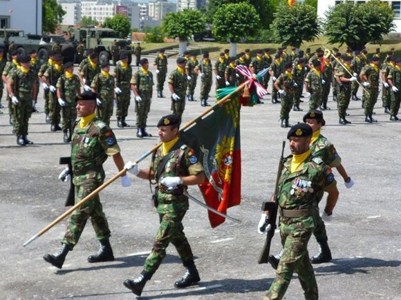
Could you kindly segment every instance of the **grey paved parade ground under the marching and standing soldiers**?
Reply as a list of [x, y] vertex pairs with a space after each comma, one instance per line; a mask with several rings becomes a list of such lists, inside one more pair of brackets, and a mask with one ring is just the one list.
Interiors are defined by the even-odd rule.
[[[169, 71], [175, 66], [175, 59], [169, 59]], [[198, 101], [187, 102], [183, 123], [205, 110], [199, 101], [199, 87], [198, 78]], [[126, 120], [132, 127], [118, 128], [115, 115], [112, 117], [111, 128], [126, 162], [138, 159], [158, 142], [156, 123], [170, 113], [167, 82], [167, 98], [156, 98], [156, 88], [153, 94], [147, 127], [153, 137], [136, 137], [133, 99]], [[214, 94], [213, 86], [209, 103], [213, 103]], [[265, 104], [241, 108], [242, 202], [230, 208], [228, 214], [242, 222], [227, 220], [212, 229], [205, 208], [190, 202], [183, 224], [201, 282], [183, 290], [174, 288], [184, 268], [171, 245], [141, 299], [262, 299], [268, 290], [275, 272], [270, 265], [257, 263], [265, 239], [257, 232], [257, 223], [261, 201], [269, 199], [274, 189], [281, 142], [286, 140], [288, 129], [280, 128], [280, 104], [272, 104], [270, 95], [263, 101]], [[291, 111], [290, 123], [302, 121], [308, 110], [307, 99], [304, 101], [304, 112]], [[389, 121], [379, 97], [373, 115], [377, 123], [366, 123], [361, 101], [351, 101], [347, 119], [352, 123], [342, 126], [336, 105], [330, 92], [331, 110], [324, 111], [326, 126], [322, 134], [334, 143], [355, 186], [347, 190], [334, 171], [340, 195], [335, 219], [326, 223], [333, 261], [314, 265], [319, 299], [401, 299], [401, 121]], [[118, 179], [100, 193], [112, 232], [115, 261], [86, 261], [98, 250], [90, 222], [80, 242], [68, 253], [62, 270], [42, 257], [59, 248], [68, 219], [23, 247], [26, 240], [66, 211], [68, 184], [57, 177], [64, 168], [59, 165], [59, 157], [69, 156], [71, 148], [63, 143], [62, 132], [50, 132], [40, 96], [38, 108], [29, 125], [28, 137], [34, 144], [26, 147], [17, 146], [8, 114], [0, 114], [0, 299], [135, 299], [122, 282], [141, 272], [158, 228], [147, 181], [129, 174], [131, 187], [122, 188]], [[140, 168], [147, 168], [149, 159], [142, 161]], [[117, 172], [112, 159], [106, 161], [104, 169], [106, 179]], [[201, 199], [196, 186], [191, 186], [189, 193]], [[324, 202], [325, 198], [321, 206]], [[271, 252], [280, 249], [277, 231]], [[316, 250], [312, 237], [310, 256]], [[304, 299], [296, 274], [285, 299]]]

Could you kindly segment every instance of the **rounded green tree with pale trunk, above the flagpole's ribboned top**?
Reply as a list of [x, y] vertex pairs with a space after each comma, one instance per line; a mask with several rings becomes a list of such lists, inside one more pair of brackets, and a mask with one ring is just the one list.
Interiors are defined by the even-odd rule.
[[254, 37], [260, 24], [257, 10], [248, 2], [224, 4], [214, 14], [212, 33], [218, 39], [230, 39], [230, 54], [236, 54], [236, 43]]

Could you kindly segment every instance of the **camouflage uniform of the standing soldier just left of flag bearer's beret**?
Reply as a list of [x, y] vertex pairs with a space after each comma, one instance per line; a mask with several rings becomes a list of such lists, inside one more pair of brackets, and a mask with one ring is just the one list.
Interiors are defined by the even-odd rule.
[[142, 70], [138, 70], [131, 79], [131, 84], [136, 86], [138, 95], [142, 98], [142, 101], [135, 101], [136, 111], [136, 127], [146, 128], [147, 115], [151, 106], [151, 97], [153, 93], [153, 74], [148, 70], [145, 75]]

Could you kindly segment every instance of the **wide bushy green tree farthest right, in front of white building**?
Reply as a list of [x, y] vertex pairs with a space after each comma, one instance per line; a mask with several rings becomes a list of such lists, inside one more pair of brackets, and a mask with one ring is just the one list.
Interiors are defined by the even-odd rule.
[[330, 43], [346, 44], [361, 50], [366, 43], [382, 41], [393, 31], [394, 14], [386, 2], [371, 0], [356, 4], [353, 1], [328, 8], [324, 30]]

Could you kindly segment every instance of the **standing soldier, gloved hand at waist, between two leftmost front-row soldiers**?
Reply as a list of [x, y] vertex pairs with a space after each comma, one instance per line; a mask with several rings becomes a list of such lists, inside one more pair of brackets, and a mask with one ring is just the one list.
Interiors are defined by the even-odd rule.
[[58, 103], [56, 89], [56, 84], [59, 80], [59, 77], [64, 74], [62, 63], [63, 57], [59, 54], [56, 54], [54, 57], [53, 65], [49, 66], [44, 72], [43, 77], [41, 77], [42, 81], [46, 83], [49, 88], [48, 110], [51, 123], [51, 131], [62, 130], [62, 128], [59, 126], [59, 123], [61, 121], [61, 108]]

